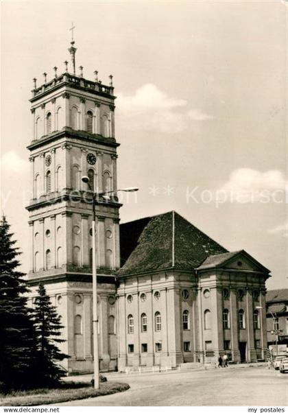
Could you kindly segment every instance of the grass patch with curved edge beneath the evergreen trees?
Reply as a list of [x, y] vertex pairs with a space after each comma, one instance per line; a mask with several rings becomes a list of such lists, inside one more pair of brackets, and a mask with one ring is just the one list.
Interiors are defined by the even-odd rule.
[[[26, 391], [14, 391], [9, 394], [0, 393], [1, 406], [34, 406], [51, 403], [63, 403], [71, 400], [88, 399], [89, 397], [105, 396], [124, 392], [130, 388], [126, 383], [105, 382], [99, 390], [91, 387], [90, 383], [62, 382], [58, 388], [38, 388]], [[77, 391], [75, 391], [77, 390]]]

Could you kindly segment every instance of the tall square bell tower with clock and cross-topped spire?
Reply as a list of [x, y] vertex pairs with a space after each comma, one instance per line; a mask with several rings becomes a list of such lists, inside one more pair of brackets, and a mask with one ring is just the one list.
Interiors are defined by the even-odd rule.
[[[29, 211], [32, 299], [43, 283], [65, 326], [62, 350], [69, 371], [93, 370], [92, 346], [92, 193], [82, 182], [88, 176], [95, 192], [117, 189], [115, 95], [112, 75], [102, 84], [95, 71], [87, 80], [83, 67], [53, 68], [53, 78], [32, 90], [32, 200]], [[70, 69], [70, 70], [69, 70]], [[116, 364], [115, 270], [119, 268], [119, 204], [117, 197], [99, 197], [96, 207], [99, 355], [101, 370]]]

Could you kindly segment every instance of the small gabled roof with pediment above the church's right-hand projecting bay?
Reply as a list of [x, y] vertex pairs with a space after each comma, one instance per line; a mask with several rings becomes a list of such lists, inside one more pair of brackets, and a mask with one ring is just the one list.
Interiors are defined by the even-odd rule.
[[[239, 250], [234, 252], [226, 252], [224, 254], [217, 254], [211, 255], [207, 257], [204, 262], [202, 262], [201, 266], [197, 268], [197, 270], [207, 270], [208, 268], [221, 268], [224, 266], [228, 266], [231, 261], [234, 261], [236, 257], [245, 257], [256, 267], [258, 267], [261, 271], [269, 273], [269, 270], [265, 268], [259, 261], [256, 261], [251, 255], [248, 254], [245, 250]], [[241, 269], [241, 268], [239, 268]]]

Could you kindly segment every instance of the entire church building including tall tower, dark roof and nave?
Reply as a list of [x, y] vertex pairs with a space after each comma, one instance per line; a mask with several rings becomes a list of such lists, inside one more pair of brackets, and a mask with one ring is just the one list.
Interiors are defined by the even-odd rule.
[[[69, 373], [93, 370], [92, 193], [117, 189], [115, 95], [71, 69], [32, 90], [28, 146], [29, 287], [43, 283], [64, 325]], [[96, 206], [100, 369], [263, 357], [269, 270], [245, 251], [228, 252], [177, 213], [119, 228], [117, 197]], [[259, 308], [257, 308], [259, 307]]]

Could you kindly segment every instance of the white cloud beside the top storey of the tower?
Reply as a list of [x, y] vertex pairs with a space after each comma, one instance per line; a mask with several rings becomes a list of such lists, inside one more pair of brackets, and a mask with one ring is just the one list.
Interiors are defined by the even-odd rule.
[[126, 130], [179, 133], [187, 129], [191, 121], [213, 119], [202, 110], [187, 111], [186, 100], [169, 97], [151, 83], [144, 84], [131, 96], [119, 93], [117, 102], [121, 112], [118, 121]]

